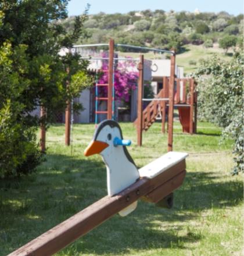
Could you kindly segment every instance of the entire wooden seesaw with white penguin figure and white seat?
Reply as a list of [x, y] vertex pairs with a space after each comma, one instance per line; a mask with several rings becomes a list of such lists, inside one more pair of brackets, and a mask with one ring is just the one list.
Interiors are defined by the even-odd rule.
[[[105, 120], [100, 123], [84, 155], [102, 155], [107, 166], [108, 195], [41, 234], [9, 256], [52, 255], [114, 214], [120, 213], [121, 216], [130, 214], [140, 198], [159, 207], [171, 208], [173, 191], [181, 186], [185, 177], [187, 154], [168, 152], [138, 170], [125, 147], [129, 144], [130, 141], [123, 140], [117, 122]], [[113, 164], [117, 164], [114, 157], [123, 162], [123, 165], [117, 165], [119, 169], [114, 169]], [[129, 179], [124, 172], [127, 168], [135, 173]]]

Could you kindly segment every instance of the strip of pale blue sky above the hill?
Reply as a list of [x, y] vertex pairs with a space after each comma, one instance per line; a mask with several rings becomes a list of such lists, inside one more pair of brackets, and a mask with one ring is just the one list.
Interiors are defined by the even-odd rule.
[[68, 5], [69, 16], [80, 15], [84, 12], [87, 3], [91, 4], [89, 14], [127, 13], [131, 10], [186, 10], [193, 12], [221, 12], [225, 11], [232, 15], [243, 13], [243, 0], [70, 0]]

